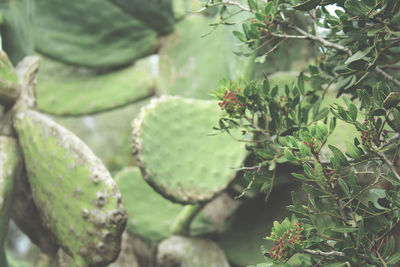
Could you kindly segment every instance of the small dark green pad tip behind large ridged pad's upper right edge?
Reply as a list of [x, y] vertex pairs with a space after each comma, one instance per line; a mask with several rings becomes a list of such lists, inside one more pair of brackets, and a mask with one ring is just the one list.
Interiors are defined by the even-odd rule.
[[160, 34], [172, 31], [175, 23], [172, 0], [110, 0], [124, 12], [141, 20]]

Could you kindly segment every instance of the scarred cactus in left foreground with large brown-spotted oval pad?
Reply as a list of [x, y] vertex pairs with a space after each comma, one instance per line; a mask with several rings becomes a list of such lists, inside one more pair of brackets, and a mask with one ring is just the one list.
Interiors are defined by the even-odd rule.
[[[12, 204], [19, 209], [13, 212], [13, 218], [22, 225], [22, 230], [50, 233], [45, 238], [28, 233], [43, 252], [53, 254], [50, 259], [60, 246], [77, 266], [105, 266], [120, 251], [126, 223], [121, 194], [102, 162], [78, 137], [33, 110], [38, 66], [35, 57], [27, 57], [17, 65], [15, 73], [21, 93], [2, 118], [2, 131], [18, 138], [27, 179], [21, 173], [22, 168], [17, 167], [20, 160], [17, 142], [9, 137], [0, 138], [3, 151], [0, 200], [4, 200], [0, 202], [3, 227], [0, 241], [6, 231], [7, 210]], [[17, 188], [13, 189], [12, 176], [17, 172]], [[16, 193], [16, 201], [12, 203], [11, 189]], [[32, 214], [28, 209], [39, 214]], [[21, 214], [24, 210], [27, 212]], [[24, 220], [31, 225], [26, 226]], [[46, 239], [49, 244], [43, 244]], [[46, 247], [50, 244], [53, 249]]]

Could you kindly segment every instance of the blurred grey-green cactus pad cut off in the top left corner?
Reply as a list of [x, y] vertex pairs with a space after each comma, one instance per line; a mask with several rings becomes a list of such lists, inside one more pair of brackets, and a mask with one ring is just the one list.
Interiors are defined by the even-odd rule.
[[25, 56], [33, 54], [33, 2], [34, 0], [0, 1], [2, 47], [14, 65]]

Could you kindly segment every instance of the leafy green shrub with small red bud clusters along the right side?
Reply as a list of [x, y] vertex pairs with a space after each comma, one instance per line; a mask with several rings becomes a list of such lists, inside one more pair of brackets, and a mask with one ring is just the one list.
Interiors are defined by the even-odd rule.
[[[243, 167], [249, 186], [261, 184], [268, 198], [279, 181], [277, 173], [288, 165], [294, 166], [293, 179], [301, 182], [301, 196], [293, 193], [288, 207], [296, 219], [274, 224], [269, 239], [282, 242], [298, 220], [307, 230], [304, 243], [279, 260], [274, 247], [266, 260], [281, 263], [302, 253], [309, 255], [303, 266], [398, 263], [398, 1], [213, 2], [253, 14], [233, 34], [254, 53], [276, 40], [304, 39], [318, 47], [314, 63], [295, 83], [278, 87], [267, 78], [224, 81], [214, 92], [220, 101], [225, 92], [234, 92], [242, 107], [227, 112], [218, 129], [241, 130], [253, 155]], [[296, 24], [299, 15], [305, 26]], [[268, 60], [278, 48], [279, 43], [258, 53], [256, 62]], [[332, 103], [332, 93], [340, 101]], [[329, 136], [340, 131], [337, 125], [346, 124], [358, 133], [342, 140], [344, 147], [330, 143]]]

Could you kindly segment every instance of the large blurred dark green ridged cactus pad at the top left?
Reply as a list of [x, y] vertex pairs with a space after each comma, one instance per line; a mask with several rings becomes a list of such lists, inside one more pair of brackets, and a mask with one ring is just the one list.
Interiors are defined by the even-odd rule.
[[157, 33], [105, 0], [37, 0], [35, 48], [90, 68], [125, 66], [154, 52]]

